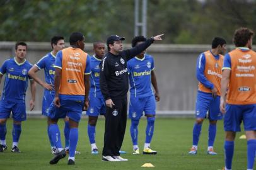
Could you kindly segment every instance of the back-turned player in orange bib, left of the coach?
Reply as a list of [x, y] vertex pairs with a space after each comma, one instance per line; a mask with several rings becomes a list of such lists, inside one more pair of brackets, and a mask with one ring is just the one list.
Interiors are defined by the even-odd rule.
[[[69, 37], [71, 47], [60, 50], [55, 60], [54, 89], [55, 98], [48, 115], [49, 133], [52, 139], [58, 139], [59, 118], [69, 117], [69, 158], [67, 164], [74, 165], [74, 154], [78, 144], [78, 125], [82, 111], [88, 108], [90, 89], [90, 57], [83, 51], [84, 36], [74, 32]], [[59, 152], [50, 161], [57, 162], [66, 156], [62, 149], [61, 139], [54, 140]]]

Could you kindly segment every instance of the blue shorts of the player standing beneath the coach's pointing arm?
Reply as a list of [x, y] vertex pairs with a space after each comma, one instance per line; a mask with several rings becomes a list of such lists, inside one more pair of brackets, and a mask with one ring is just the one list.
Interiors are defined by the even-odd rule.
[[130, 97], [129, 105], [129, 118], [132, 120], [139, 120], [143, 116], [143, 111], [145, 115], [156, 115], [156, 99], [154, 95], [147, 97]]

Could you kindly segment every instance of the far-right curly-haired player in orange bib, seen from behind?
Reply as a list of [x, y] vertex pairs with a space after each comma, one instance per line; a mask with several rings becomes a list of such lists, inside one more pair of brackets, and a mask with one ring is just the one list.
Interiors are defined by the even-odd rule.
[[[224, 115], [225, 169], [231, 169], [236, 132], [243, 122], [247, 137], [247, 170], [253, 169], [256, 151], [256, 52], [252, 50], [253, 31], [239, 28], [233, 42], [235, 50], [224, 57], [221, 79], [221, 105]], [[228, 92], [226, 93], [228, 89]]]

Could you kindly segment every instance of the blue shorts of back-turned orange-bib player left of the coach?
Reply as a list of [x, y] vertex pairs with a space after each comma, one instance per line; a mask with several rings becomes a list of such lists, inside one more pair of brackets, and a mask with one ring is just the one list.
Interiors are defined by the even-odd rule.
[[51, 119], [66, 118], [79, 122], [82, 116], [84, 101], [61, 99], [61, 107], [57, 108], [54, 102], [50, 104], [49, 117]]

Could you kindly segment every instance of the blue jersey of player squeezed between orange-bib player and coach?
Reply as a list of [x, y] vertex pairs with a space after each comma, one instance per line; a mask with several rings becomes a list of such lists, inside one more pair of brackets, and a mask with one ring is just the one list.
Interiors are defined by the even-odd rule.
[[91, 58], [91, 88], [90, 95], [93, 95], [95, 98], [103, 98], [102, 91], [100, 91], [100, 62], [102, 60], [97, 59], [95, 55]]

